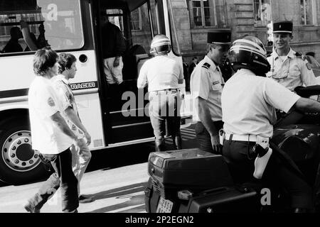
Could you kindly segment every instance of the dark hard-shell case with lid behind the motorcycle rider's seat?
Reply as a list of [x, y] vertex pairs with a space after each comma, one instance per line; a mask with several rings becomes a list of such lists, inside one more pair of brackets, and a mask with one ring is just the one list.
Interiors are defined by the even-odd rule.
[[201, 192], [233, 185], [223, 157], [198, 148], [151, 153], [148, 173], [164, 199], [183, 189]]

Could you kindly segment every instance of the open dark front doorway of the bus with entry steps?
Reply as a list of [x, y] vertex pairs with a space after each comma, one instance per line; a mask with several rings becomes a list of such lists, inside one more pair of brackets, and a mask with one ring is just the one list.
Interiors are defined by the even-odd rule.
[[[119, 1], [118, 4], [112, 5], [110, 1], [101, 0], [98, 5], [99, 12], [96, 12], [100, 14], [97, 18], [106, 14], [108, 20], [118, 26], [126, 43], [126, 50], [122, 55], [124, 66], [121, 84], [108, 84], [106, 75], [102, 71], [104, 60], [100, 59], [102, 65], [100, 79], [105, 83], [104, 95], [107, 101], [105, 109], [108, 113], [109, 131], [106, 133], [108, 143], [121, 143], [154, 136], [149, 119], [147, 88], [137, 89], [137, 78], [139, 69], [150, 58], [151, 40], [157, 33], [156, 4], [154, 0], [123, 3], [124, 1]], [[97, 28], [100, 29], [97, 31], [97, 35], [100, 35], [98, 49], [101, 49], [104, 42], [101, 32], [102, 18]]]

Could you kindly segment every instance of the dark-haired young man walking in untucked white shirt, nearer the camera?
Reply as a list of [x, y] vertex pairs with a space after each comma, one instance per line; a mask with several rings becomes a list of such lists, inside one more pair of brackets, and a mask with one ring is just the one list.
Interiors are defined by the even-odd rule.
[[82, 147], [82, 140], [70, 130], [61, 114], [62, 105], [53, 89], [51, 78], [58, 75], [58, 55], [53, 50], [38, 50], [33, 59], [36, 78], [28, 93], [32, 148], [50, 161], [55, 174], [51, 175], [24, 208], [39, 213], [42, 206], [60, 187], [63, 212], [78, 212], [78, 180], [71, 167], [70, 147]]

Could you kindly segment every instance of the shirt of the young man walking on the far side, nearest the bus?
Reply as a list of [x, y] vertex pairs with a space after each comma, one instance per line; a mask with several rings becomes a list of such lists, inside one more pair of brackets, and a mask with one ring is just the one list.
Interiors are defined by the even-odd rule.
[[65, 121], [68, 123], [68, 126], [73, 131], [73, 133], [75, 133], [78, 138], [83, 138], [84, 133], [80, 130], [80, 128], [75, 126], [75, 124], [70, 121], [67, 114], [65, 114], [65, 110], [68, 109], [68, 107], [71, 107], [75, 111], [75, 114], [79, 117], [77, 104], [75, 104], [75, 96], [73, 95], [73, 91], [70, 88], [69, 81], [60, 74], [56, 77], [53, 77], [53, 87], [55, 88], [58, 99], [60, 99], [62, 104], [63, 113], [61, 115], [63, 116], [63, 118], [65, 118]]

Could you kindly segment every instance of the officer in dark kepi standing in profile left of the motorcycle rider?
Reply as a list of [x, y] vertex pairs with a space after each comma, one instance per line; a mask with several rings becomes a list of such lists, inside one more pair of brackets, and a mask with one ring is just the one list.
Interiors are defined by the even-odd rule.
[[218, 131], [223, 127], [220, 97], [225, 82], [218, 65], [228, 53], [231, 32], [212, 31], [207, 38], [207, 54], [191, 74], [193, 121], [197, 121], [195, 131], [201, 150], [220, 153]]

